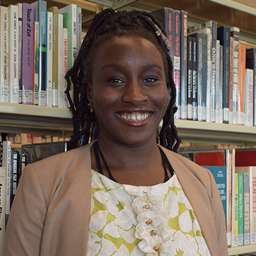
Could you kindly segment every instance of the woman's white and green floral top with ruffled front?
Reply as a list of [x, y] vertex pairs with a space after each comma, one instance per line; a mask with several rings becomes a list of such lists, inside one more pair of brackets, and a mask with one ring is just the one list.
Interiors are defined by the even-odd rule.
[[118, 184], [92, 170], [87, 256], [211, 256], [174, 174], [155, 186]]

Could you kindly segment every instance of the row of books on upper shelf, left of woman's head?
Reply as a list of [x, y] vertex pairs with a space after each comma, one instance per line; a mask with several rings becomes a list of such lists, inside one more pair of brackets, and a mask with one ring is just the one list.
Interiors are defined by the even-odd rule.
[[81, 47], [81, 8], [0, 6], [0, 102], [67, 108], [64, 76]]

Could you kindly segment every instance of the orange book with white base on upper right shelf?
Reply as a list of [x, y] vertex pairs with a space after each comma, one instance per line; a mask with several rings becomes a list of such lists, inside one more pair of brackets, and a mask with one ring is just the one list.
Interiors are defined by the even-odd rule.
[[239, 44], [238, 60], [238, 115], [237, 124], [244, 125], [244, 80], [245, 80], [246, 47]]

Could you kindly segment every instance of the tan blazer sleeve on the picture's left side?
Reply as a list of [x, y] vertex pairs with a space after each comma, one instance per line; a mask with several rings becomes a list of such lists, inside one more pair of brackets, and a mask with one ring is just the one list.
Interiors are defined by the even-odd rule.
[[4, 240], [5, 256], [40, 255], [46, 212], [40, 182], [29, 164], [22, 173], [10, 211]]

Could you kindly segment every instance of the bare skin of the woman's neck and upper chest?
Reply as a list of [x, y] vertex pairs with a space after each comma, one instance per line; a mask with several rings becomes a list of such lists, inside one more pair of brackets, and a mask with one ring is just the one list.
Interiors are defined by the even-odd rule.
[[[99, 137], [98, 143], [117, 182], [136, 186], [152, 186], [163, 182], [164, 168], [156, 140], [143, 145], [122, 145]], [[92, 168], [97, 170], [93, 150], [91, 152]], [[105, 165], [100, 161], [103, 174], [108, 177]]]

